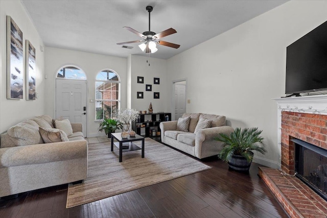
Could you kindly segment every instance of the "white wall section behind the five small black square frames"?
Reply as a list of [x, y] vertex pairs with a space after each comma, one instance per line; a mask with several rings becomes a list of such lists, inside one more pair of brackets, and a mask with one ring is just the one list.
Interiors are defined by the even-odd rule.
[[[137, 77], [144, 77], [144, 83], [137, 83]], [[159, 78], [160, 84], [153, 84], [153, 78]], [[152, 85], [152, 91], [145, 90], [147, 84]], [[131, 87], [131, 108], [148, 111], [152, 103], [153, 113], [171, 111], [167, 104], [170, 101], [170, 95], [167, 94], [170, 93], [167, 90], [167, 60], [132, 55]], [[143, 99], [137, 99], [138, 91], [143, 91]], [[159, 99], [153, 98], [153, 92], [159, 92]]]

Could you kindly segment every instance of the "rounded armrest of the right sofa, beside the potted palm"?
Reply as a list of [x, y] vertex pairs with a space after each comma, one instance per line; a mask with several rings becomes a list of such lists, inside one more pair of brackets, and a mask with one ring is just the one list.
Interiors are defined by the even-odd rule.
[[[195, 137], [195, 156], [198, 158], [208, 157], [208, 155], [217, 150], [221, 150], [222, 142], [216, 141], [214, 138], [220, 133], [230, 135], [234, 129], [229, 126], [212, 127], [199, 130]], [[206, 154], [207, 153], [207, 154]]]

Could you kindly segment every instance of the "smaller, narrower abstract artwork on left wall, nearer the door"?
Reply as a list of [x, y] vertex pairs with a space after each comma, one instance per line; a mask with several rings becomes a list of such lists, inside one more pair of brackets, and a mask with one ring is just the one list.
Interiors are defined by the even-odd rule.
[[35, 100], [35, 48], [26, 40], [26, 100]]

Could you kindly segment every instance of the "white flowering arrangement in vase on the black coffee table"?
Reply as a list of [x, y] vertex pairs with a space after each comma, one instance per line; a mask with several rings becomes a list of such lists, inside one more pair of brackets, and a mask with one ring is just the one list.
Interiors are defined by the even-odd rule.
[[118, 120], [123, 126], [122, 138], [135, 136], [135, 132], [130, 131], [131, 122], [138, 118], [138, 111], [136, 109], [125, 109], [118, 111]]

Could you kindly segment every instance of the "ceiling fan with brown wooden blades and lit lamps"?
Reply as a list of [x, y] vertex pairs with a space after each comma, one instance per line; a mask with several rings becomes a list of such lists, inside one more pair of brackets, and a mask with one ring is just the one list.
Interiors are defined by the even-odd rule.
[[123, 27], [123, 28], [127, 29], [128, 31], [135, 33], [136, 35], [141, 36], [143, 38], [143, 40], [121, 42], [121, 43], [117, 43], [117, 44], [121, 45], [121, 44], [135, 43], [135, 42], [143, 42], [142, 44], [140, 44], [138, 46], [143, 52], [146, 51], [146, 53], [150, 53], [150, 52], [155, 53], [156, 51], [158, 51], [156, 44], [165, 45], [165, 46], [173, 47], [174, 49], [178, 49], [180, 46], [179, 44], [174, 44], [171, 42], [159, 40], [161, 38], [164, 38], [165, 36], [169, 36], [171, 34], [177, 33], [177, 31], [174, 30], [173, 28], [169, 28], [168, 30], [162, 31], [157, 34], [150, 31], [150, 13], [153, 10], [153, 7], [147, 6], [146, 10], [149, 12], [149, 31], [145, 31], [142, 34], [130, 27]]

